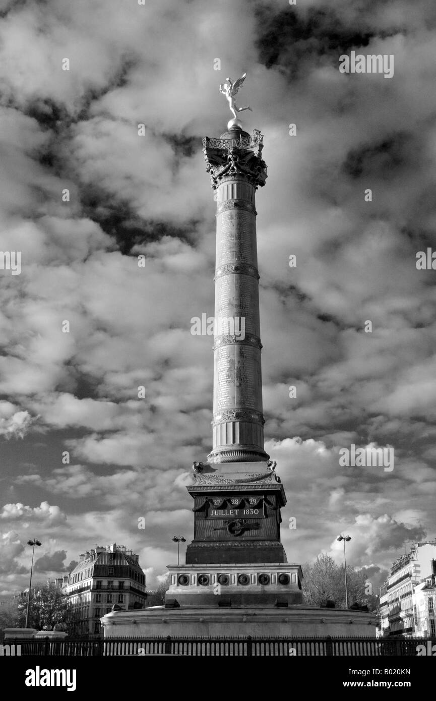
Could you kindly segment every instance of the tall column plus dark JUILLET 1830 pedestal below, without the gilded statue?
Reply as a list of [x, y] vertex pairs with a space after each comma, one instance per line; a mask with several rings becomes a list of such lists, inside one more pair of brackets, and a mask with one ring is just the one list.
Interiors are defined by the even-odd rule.
[[[264, 451], [254, 206], [254, 193], [266, 180], [261, 150], [260, 132], [250, 136], [239, 125], [219, 139], [203, 141], [206, 170], [217, 193], [213, 447], [207, 463], [193, 463], [196, 478], [187, 487], [194, 500], [194, 538], [186, 547], [186, 566], [243, 564], [236, 587], [244, 587], [250, 568], [270, 563], [271, 572], [287, 573], [280, 587], [289, 585], [287, 593], [294, 600], [296, 594], [299, 597], [292, 590], [298, 590], [297, 573], [292, 580], [290, 570], [282, 569], [286, 554], [280, 543], [280, 509], [286, 503], [285, 490], [275, 475], [275, 462]], [[198, 585], [206, 587], [203, 600], [216, 601], [215, 592], [207, 590], [214, 581], [203, 574]], [[182, 587], [190, 576], [183, 576]], [[236, 583], [236, 574], [223, 576], [225, 586]], [[258, 599], [259, 592], [253, 601], [277, 598], [277, 591], [271, 590], [266, 599]], [[178, 589], [177, 600], [180, 595]], [[248, 601], [246, 596], [235, 590], [232, 601]]]

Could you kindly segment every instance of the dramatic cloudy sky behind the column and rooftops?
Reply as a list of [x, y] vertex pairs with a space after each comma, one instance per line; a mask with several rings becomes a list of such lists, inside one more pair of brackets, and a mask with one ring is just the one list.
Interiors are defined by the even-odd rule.
[[[0, 594], [26, 587], [31, 537], [38, 580], [116, 541], [149, 587], [171, 537], [193, 537], [212, 415], [211, 338], [190, 332], [214, 311], [201, 139], [245, 71], [282, 542], [289, 562], [341, 562], [349, 533], [376, 587], [436, 536], [436, 273], [416, 269], [435, 240], [434, 0], [0, 0], [0, 17], [0, 250], [22, 252], [20, 275], [0, 270]], [[393, 78], [341, 74], [351, 50], [394, 55]], [[341, 467], [350, 444], [392, 447], [394, 469]]]

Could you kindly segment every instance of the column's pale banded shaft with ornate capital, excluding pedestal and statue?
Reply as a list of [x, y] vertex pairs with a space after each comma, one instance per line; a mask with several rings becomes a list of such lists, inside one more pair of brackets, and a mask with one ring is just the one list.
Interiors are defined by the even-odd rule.
[[254, 194], [266, 180], [262, 136], [203, 140], [217, 192], [214, 403], [209, 463], [266, 461]]

